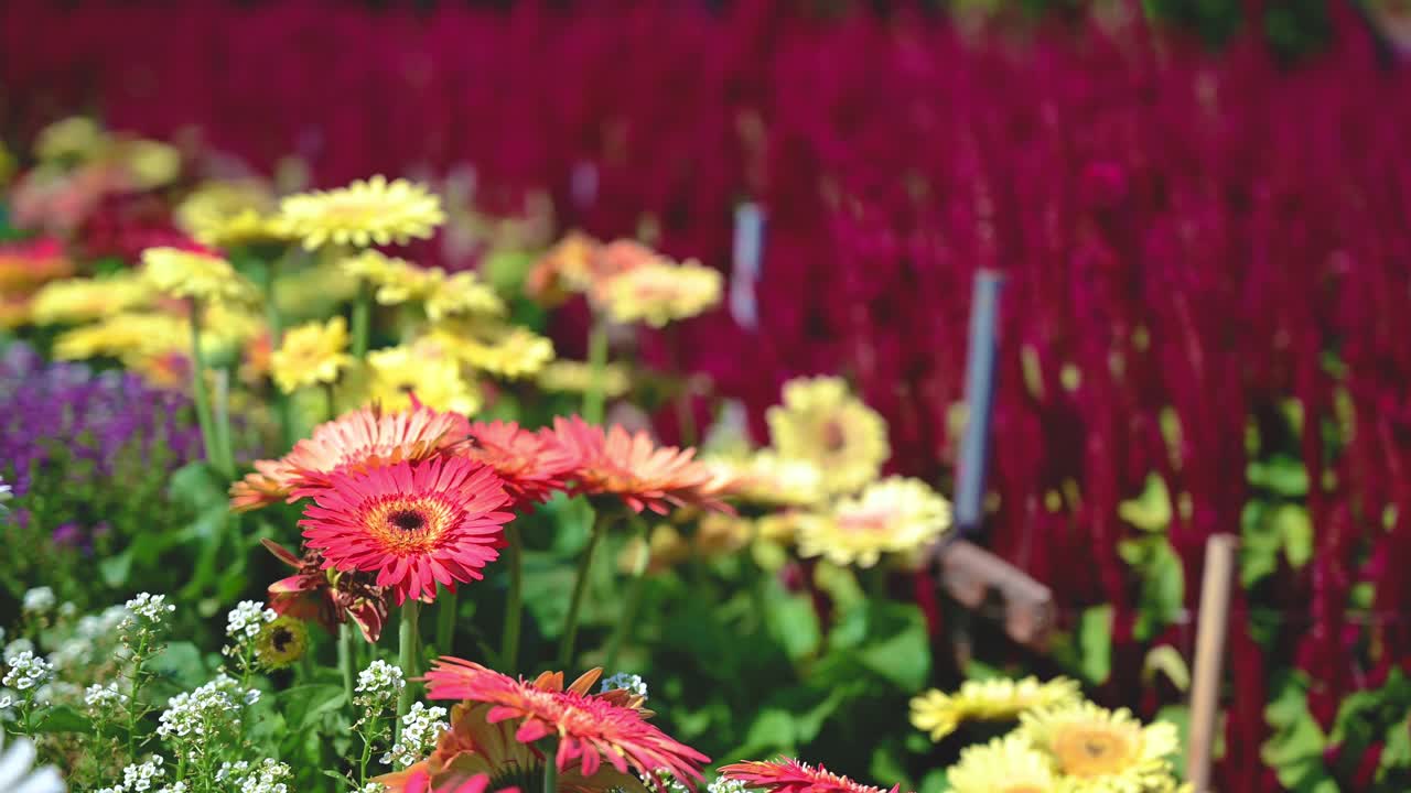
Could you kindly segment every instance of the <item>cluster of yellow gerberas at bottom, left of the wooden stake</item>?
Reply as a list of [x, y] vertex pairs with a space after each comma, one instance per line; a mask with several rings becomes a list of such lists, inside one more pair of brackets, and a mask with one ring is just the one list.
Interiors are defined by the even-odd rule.
[[1019, 722], [1005, 737], [961, 751], [947, 769], [957, 793], [1177, 793], [1175, 727], [1141, 724], [1126, 710], [1082, 698], [1067, 679], [968, 680], [955, 694], [912, 700], [912, 724], [938, 741], [965, 721]]

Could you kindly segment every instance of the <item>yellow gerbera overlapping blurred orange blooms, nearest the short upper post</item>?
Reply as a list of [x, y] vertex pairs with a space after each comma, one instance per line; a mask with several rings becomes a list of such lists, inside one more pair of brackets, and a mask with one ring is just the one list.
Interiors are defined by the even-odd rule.
[[665, 327], [714, 308], [720, 295], [720, 271], [694, 261], [662, 260], [608, 278], [594, 289], [594, 302], [612, 322]]

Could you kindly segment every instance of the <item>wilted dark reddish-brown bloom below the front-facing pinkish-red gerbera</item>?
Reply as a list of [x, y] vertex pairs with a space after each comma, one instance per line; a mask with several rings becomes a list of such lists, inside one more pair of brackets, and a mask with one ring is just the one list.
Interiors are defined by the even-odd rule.
[[279, 562], [298, 570], [270, 584], [270, 608], [279, 615], [317, 622], [329, 632], [351, 619], [364, 639], [377, 642], [387, 624], [387, 588], [373, 583], [371, 574], [326, 570], [323, 555], [316, 550], [295, 556], [271, 539], [260, 542]]

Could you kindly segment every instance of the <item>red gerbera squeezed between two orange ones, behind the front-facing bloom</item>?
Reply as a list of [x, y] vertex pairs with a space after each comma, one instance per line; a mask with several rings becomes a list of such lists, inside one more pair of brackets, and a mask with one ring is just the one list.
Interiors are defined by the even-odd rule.
[[576, 461], [553, 432], [532, 432], [515, 422], [470, 425], [470, 439], [460, 453], [494, 468], [516, 507], [545, 502], [563, 490], [563, 477]]

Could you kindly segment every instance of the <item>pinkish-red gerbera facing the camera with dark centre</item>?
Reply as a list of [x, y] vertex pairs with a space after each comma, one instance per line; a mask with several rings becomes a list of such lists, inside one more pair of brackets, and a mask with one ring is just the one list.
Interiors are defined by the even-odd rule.
[[437, 583], [454, 590], [483, 579], [480, 569], [499, 556], [502, 523], [514, 518], [495, 512], [509, 501], [499, 477], [463, 457], [333, 474], [313, 501], [299, 525], [323, 566], [375, 570], [398, 604], [433, 597]]

